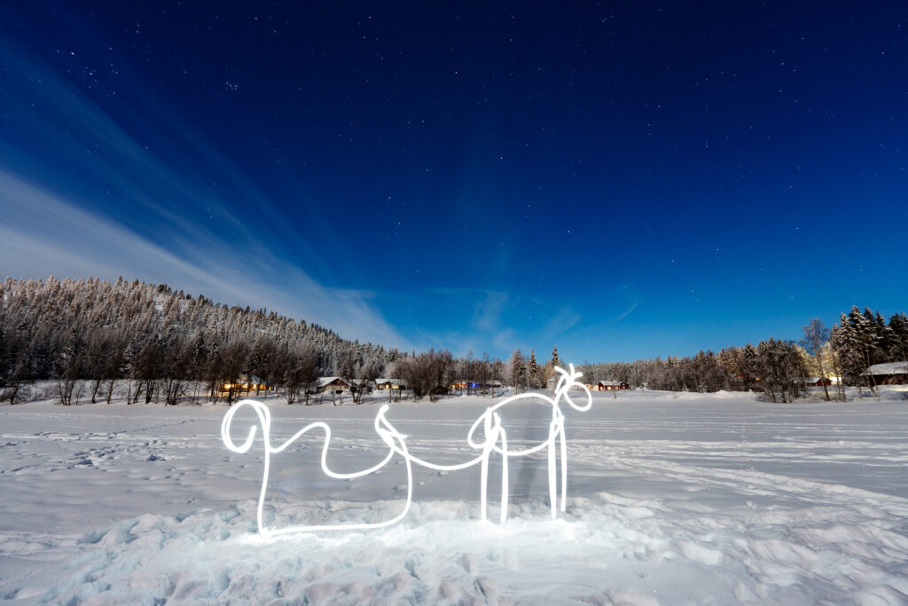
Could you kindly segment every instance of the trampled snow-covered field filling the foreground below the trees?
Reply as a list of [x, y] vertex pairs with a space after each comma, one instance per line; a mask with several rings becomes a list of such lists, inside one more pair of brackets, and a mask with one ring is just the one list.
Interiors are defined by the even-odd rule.
[[[23, 603], [908, 602], [908, 400], [773, 404], [749, 394], [594, 394], [565, 410], [568, 512], [552, 521], [544, 457], [512, 460], [510, 519], [479, 522], [479, 469], [414, 468], [397, 525], [262, 541], [261, 442], [228, 452], [225, 405], [0, 408], [0, 598]], [[387, 452], [371, 405], [271, 400], [273, 442], [334, 432], [329, 463]], [[391, 404], [408, 446], [474, 455], [480, 398]], [[546, 406], [502, 409], [508, 438], [548, 433]], [[238, 425], [251, 423], [237, 417]], [[245, 432], [245, 430], [243, 430]], [[240, 435], [237, 434], [237, 440]], [[258, 440], [258, 439], [257, 439]], [[379, 522], [404, 465], [330, 480], [321, 435], [275, 455], [269, 525]], [[497, 468], [490, 518], [498, 519]]]

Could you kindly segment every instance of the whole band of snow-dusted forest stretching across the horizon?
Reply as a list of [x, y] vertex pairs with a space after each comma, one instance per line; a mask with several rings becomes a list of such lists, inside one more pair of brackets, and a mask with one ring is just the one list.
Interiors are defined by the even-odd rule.
[[[581, 367], [586, 381], [627, 382], [654, 390], [760, 391], [789, 402], [807, 390], [808, 377], [841, 377], [824, 390], [844, 399], [846, 385], [866, 382], [875, 363], [908, 359], [908, 317], [887, 322], [879, 312], [853, 307], [827, 329], [819, 320], [804, 326], [797, 343], [773, 337], [719, 353], [668, 356], [633, 363]], [[342, 339], [317, 324], [266, 310], [213, 303], [174, 292], [165, 284], [115, 283], [89, 278], [15, 280], [0, 283], [0, 398], [20, 402], [37, 380], [54, 379], [58, 400], [73, 402], [76, 382], [89, 382], [92, 402], [110, 402], [117, 380], [130, 380], [130, 402], [180, 402], [191, 383], [206, 386], [216, 400], [219, 384], [255, 375], [295, 402], [320, 376], [372, 381], [400, 378], [417, 398], [434, 399], [453, 382], [505, 382], [518, 390], [546, 387], [560, 363], [535, 351], [516, 350], [507, 363], [447, 350], [398, 352], [373, 343]], [[873, 388], [873, 384], [870, 385]], [[228, 401], [234, 399], [228, 393]]]

